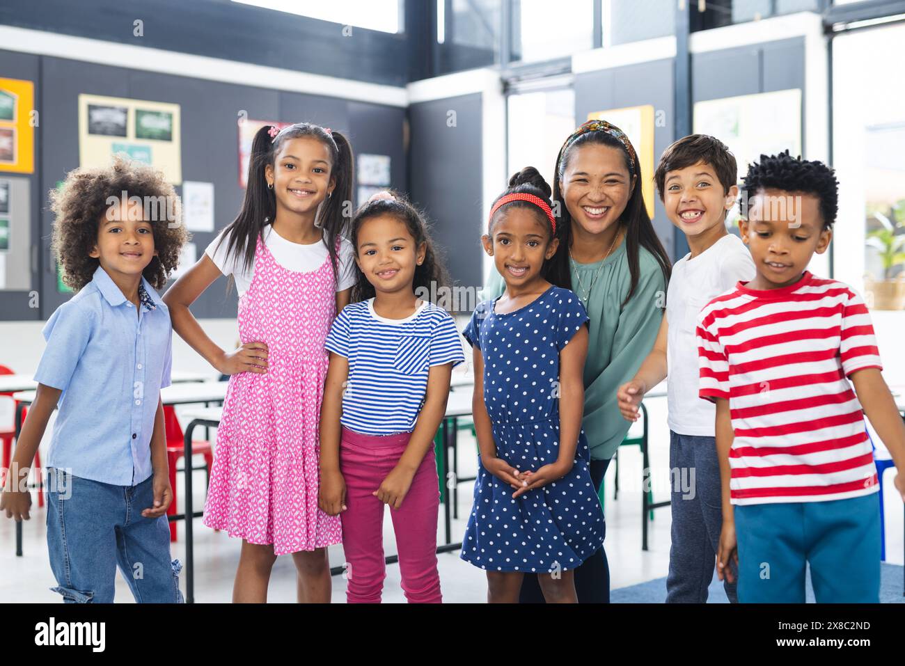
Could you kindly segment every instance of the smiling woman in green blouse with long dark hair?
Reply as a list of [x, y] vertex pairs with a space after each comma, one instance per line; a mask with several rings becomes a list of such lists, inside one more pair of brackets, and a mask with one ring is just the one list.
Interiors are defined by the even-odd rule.
[[[589, 120], [570, 134], [557, 157], [553, 206], [557, 250], [544, 276], [574, 290], [587, 309], [589, 340], [584, 368], [582, 425], [591, 447], [596, 490], [631, 423], [616, 402], [651, 351], [666, 301], [670, 260], [644, 207], [644, 174], [632, 142], [605, 120]], [[503, 290], [491, 271], [487, 298]], [[523, 603], [542, 601], [535, 576], [526, 576]], [[578, 600], [607, 603], [609, 566], [603, 548], [575, 574]]]

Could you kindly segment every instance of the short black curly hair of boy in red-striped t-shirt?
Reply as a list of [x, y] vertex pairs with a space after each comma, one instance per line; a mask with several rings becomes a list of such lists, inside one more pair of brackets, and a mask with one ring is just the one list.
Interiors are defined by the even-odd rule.
[[824, 229], [832, 229], [839, 212], [839, 181], [834, 169], [817, 160], [792, 157], [786, 150], [779, 155], [761, 155], [748, 165], [742, 182], [741, 214], [748, 217], [748, 205], [761, 190], [776, 189], [814, 195], [820, 201]]

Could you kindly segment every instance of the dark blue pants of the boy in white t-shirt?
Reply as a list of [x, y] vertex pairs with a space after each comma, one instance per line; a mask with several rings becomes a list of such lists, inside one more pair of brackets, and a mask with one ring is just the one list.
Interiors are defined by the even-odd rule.
[[[670, 431], [670, 469], [672, 546], [666, 603], [704, 604], [723, 526], [716, 439]], [[736, 584], [724, 580], [723, 589], [735, 603]]]

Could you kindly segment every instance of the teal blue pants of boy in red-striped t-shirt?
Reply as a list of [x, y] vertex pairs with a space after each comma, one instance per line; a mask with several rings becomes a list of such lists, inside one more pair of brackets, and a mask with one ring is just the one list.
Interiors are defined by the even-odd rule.
[[805, 563], [818, 604], [880, 602], [880, 505], [853, 499], [735, 507], [738, 601], [804, 604]]

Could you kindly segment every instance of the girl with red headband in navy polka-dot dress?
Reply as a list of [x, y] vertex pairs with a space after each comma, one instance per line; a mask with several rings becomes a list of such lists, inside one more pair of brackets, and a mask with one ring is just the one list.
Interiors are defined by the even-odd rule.
[[463, 331], [481, 457], [462, 559], [487, 571], [491, 603], [518, 602], [525, 574], [548, 603], [576, 603], [573, 572], [604, 541], [581, 429], [587, 314], [543, 276], [559, 243], [549, 196], [529, 166], [492, 206], [481, 240], [506, 290]]

